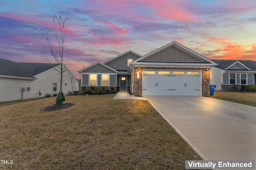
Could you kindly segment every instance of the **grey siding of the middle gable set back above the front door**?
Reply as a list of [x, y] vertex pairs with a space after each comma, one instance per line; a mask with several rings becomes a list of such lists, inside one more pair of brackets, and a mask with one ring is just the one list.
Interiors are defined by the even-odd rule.
[[126, 55], [118, 57], [117, 59], [105, 64], [115, 70], [128, 70], [129, 66], [127, 66], [127, 59], [133, 59], [134, 61], [138, 58], [139, 57], [137, 55], [134, 55], [133, 53], [127, 53]]

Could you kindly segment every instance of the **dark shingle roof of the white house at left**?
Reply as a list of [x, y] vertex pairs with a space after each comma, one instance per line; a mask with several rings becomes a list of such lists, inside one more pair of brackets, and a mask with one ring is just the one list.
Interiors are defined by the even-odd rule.
[[[59, 64], [54, 64], [58, 66]], [[16, 63], [13, 61], [0, 59], [0, 75], [14, 76], [24, 78], [34, 78], [46, 70], [50, 70], [52, 66], [48, 63]]]

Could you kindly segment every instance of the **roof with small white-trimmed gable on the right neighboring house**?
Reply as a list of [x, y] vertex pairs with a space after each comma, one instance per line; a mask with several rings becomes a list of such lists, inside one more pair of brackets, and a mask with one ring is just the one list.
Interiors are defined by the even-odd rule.
[[214, 66], [221, 70], [252, 70], [256, 71], [256, 61], [252, 60], [212, 60], [218, 65]]

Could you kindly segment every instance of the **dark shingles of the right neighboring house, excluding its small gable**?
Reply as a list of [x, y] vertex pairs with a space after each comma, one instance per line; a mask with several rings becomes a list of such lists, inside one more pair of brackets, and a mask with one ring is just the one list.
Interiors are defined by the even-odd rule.
[[212, 60], [212, 61], [214, 61], [215, 63], [218, 63], [218, 65], [214, 67], [220, 68], [222, 70], [225, 70], [232, 64], [236, 63], [236, 61], [239, 61], [240, 63], [244, 64], [251, 70], [256, 71], [256, 61], [252, 61], [252, 60]]

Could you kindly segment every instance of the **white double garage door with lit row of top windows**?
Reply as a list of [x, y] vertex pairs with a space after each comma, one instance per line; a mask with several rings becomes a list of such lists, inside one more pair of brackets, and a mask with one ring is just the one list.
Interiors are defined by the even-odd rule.
[[142, 70], [142, 96], [202, 96], [202, 70]]

